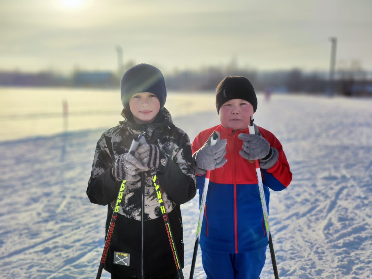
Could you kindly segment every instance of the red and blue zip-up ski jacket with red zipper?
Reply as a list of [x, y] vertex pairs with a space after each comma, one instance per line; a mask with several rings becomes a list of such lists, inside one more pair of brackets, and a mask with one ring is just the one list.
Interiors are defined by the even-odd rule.
[[[279, 159], [270, 169], [261, 170], [264, 193], [269, 212], [269, 188], [285, 189], [292, 180], [292, 173], [279, 140], [269, 131], [258, 127], [263, 138], [279, 152]], [[240, 133], [249, 134], [248, 128], [232, 131], [217, 125], [200, 132], [192, 143], [192, 153], [201, 148], [218, 131], [221, 140], [227, 140], [227, 162], [211, 171], [204, 219], [200, 235], [203, 249], [226, 253], [244, 253], [266, 247], [268, 244], [259, 187], [254, 161], [239, 155], [243, 141]], [[204, 188], [205, 175], [196, 177], [199, 189], [199, 205]]]

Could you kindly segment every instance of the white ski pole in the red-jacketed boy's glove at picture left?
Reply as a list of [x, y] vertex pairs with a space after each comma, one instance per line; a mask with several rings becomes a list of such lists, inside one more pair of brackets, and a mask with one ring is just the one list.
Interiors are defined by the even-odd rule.
[[[213, 132], [213, 136], [211, 139], [211, 146], [215, 145], [218, 139], [218, 134], [216, 131]], [[194, 269], [195, 269], [195, 262], [196, 262], [196, 254], [198, 254], [198, 247], [199, 247], [199, 237], [200, 232], [202, 230], [202, 223], [203, 223], [203, 217], [204, 217], [204, 207], [205, 207], [205, 201], [208, 193], [208, 185], [209, 185], [209, 177], [211, 176], [211, 171], [207, 170], [205, 172], [205, 182], [204, 182], [204, 188], [202, 193], [202, 200], [200, 203], [200, 209], [199, 209], [199, 221], [198, 221], [198, 227], [196, 228], [196, 239], [195, 239], [195, 245], [194, 245], [194, 252], [192, 254], [192, 262], [191, 262], [191, 270], [190, 270], [190, 279], [194, 276]]]

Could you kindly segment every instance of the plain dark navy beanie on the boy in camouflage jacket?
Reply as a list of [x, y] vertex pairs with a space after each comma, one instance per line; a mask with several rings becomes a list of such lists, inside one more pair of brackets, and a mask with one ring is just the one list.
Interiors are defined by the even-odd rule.
[[159, 99], [160, 109], [167, 99], [163, 74], [158, 68], [149, 64], [134, 65], [126, 71], [121, 79], [120, 91], [121, 102], [128, 111], [130, 111], [129, 99], [136, 93], [153, 93]]

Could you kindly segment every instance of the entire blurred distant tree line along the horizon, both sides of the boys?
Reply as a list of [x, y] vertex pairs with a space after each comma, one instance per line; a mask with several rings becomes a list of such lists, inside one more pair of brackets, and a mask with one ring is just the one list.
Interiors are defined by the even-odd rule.
[[[128, 65], [129, 67], [130, 65]], [[333, 90], [344, 96], [372, 96], [372, 78], [360, 67], [339, 69], [333, 82], [328, 73], [308, 73], [301, 69], [257, 71], [239, 68], [232, 63], [225, 67], [204, 67], [200, 70], [175, 70], [165, 76], [167, 89], [182, 91], [215, 90], [225, 76], [244, 76], [256, 91], [323, 94]], [[0, 71], [0, 86], [59, 86], [118, 88], [121, 74], [110, 71], [75, 70], [70, 77], [58, 74]]]

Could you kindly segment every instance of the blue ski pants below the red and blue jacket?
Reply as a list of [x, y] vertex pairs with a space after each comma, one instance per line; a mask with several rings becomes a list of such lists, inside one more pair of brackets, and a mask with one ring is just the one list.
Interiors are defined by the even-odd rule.
[[207, 279], [259, 279], [265, 260], [266, 247], [238, 254], [202, 249], [202, 264]]

